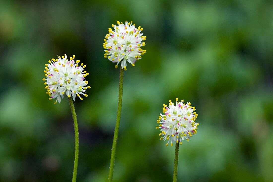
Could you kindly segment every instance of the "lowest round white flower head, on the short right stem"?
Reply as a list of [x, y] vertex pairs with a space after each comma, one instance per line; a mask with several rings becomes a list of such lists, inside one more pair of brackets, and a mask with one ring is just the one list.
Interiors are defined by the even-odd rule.
[[189, 138], [197, 133], [198, 123], [195, 122], [198, 114], [195, 111], [195, 107], [191, 106], [191, 102], [184, 103], [184, 100], [172, 103], [171, 100], [169, 106], [163, 104], [163, 113], [160, 114], [157, 123], [159, 124], [162, 133], [161, 140], [168, 140], [166, 146], [171, 142], [182, 144], [182, 140], [189, 141]]

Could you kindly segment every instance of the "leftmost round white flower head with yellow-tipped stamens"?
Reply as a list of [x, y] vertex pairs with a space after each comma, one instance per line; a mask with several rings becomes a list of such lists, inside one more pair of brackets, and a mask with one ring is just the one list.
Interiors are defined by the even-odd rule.
[[[43, 78], [43, 81], [46, 81], [44, 84], [48, 85], [44, 88], [50, 96], [49, 100], [56, 99], [60, 103], [64, 95], [68, 98], [72, 96], [74, 101], [76, 96], [81, 100], [83, 98], [80, 95], [87, 97], [85, 90], [90, 89], [90, 86], [87, 86], [88, 81], [84, 80], [88, 75], [84, 71], [86, 66], [83, 63], [80, 64], [80, 60], [75, 61], [74, 58], [75, 55], [68, 60], [65, 54], [62, 58], [48, 60], [49, 64], [46, 64], [44, 71], [46, 78]], [[54, 103], [56, 104], [57, 101]]]

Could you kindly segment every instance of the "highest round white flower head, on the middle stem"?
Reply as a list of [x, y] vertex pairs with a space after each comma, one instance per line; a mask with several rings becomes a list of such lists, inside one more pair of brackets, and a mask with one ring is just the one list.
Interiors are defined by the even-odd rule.
[[103, 43], [105, 50], [104, 57], [108, 58], [113, 63], [117, 63], [115, 68], [121, 62], [121, 67], [126, 69], [127, 63], [135, 66], [135, 62], [141, 59], [146, 50], [141, 49], [145, 46], [146, 36], [143, 36], [141, 31], [143, 28], [140, 26], [135, 27], [132, 22], [125, 22], [125, 25], [117, 21], [118, 25], [112, 24], [112, 28], [109, 28], [109, 34], [106, 35]]

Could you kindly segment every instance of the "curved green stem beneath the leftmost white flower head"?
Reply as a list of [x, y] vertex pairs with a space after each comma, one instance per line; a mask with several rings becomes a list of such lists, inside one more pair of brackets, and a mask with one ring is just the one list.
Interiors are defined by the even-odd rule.
[[73, 100], [71, 97], [68, 98], [68, 100], [69, 100], [69, 104], [70, 104], [70, 108], [71, 108], [71, 112], [73, 116], [74, 129], [75, 129], [75, 159], [74, 159], [72, 182], [76, 182], [77, 171], [78, 171], [78, 160], [79, 160], [79, 130], [78, 130], [78, 121], [77, 121], [77, 116], [76, 116]]

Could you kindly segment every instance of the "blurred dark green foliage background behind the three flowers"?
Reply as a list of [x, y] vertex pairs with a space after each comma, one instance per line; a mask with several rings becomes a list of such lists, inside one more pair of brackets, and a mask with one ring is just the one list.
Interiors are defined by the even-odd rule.
[[71, 181], [69, 103], [48, 100], [44, 64], [73, 54], [91, 89], [75, 103], [79, 182], [108, 176], [119, 69], [103, 58], [117, 20], [147, 36], [128, 66], [114, 181], [171, 181], [174, 147], [159, 140], [162, 104], [196, 106], [178, 181], [273, 181], [272, 1], [0, 1], [0, 181]]

